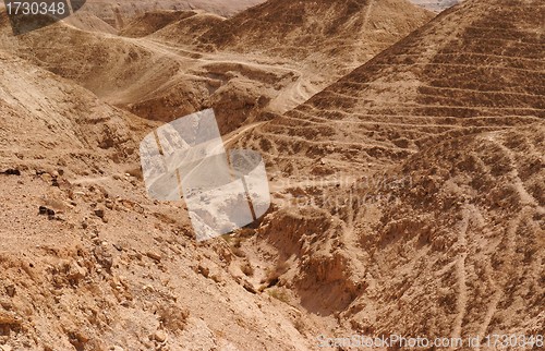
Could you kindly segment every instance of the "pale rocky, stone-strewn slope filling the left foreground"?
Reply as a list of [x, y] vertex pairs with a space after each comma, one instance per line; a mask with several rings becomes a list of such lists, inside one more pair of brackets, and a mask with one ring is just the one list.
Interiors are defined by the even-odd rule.
[[312, 348], [233, 243], [197, 245], [183, 204], [148, 199], [136, 150], [156, 124], [0, 61], [0, 349]]

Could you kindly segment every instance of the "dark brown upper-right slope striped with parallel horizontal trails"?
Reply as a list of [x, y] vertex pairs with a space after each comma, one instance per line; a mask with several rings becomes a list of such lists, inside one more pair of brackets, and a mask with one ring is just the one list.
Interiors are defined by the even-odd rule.
[[440, 14], [256, 129], [255, 146], [270, 141], [264, 152], [284, 169], [294, 154], [316, 169], [320, 159], [339, 170], [380, 168], [446, 136], [540, 122], [545, 10], [537, 1], [495, 4], [469, 1]]

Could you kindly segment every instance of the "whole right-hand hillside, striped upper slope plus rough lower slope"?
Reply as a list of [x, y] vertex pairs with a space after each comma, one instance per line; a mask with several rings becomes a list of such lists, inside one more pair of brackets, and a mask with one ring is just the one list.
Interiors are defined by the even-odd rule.
[[543, 332], [544, 11], [467, 1], [239, 141], [279, 191], [245, 247], [292, 301], [372, 335]]

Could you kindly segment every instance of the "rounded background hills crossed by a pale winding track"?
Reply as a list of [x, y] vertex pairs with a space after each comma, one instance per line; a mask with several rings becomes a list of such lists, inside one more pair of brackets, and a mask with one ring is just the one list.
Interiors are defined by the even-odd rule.
[[[267, 17], [269, 8], [276, 14]], [[304, 21], [292, 24], [291, 34], [278, 29], [293, 41], [288, 43], [271, 35], [270, 26], [275, 21], [276, 27], [284, 26], [283, 14], [291, 12]], [[316, 27], [325, 14], [327, 28]], [[344, 25], [347, 15], [350, 21]], [[170, 121], [214, 107], [221, 131], [232, 132], [244, 122], [263, 119], [262, 113], [283, 113], [304, 102], [432, 16], [405, 0], [362, 1], [355, 8], [326, 0], [313, 5], [270, 0], [229, 20], [197, 10], [149, 12], [130, 22], [120, 35], [68, 22], [14, 38], [5, 20], [0, 47], [145, 119]], [[259, 17], [268, 23], [242, 25]], [[240, 35], [234, 48], [237, 31], [247, 34]], [[232, 43], [222, 45], [225, 33], [231, 32]], [[257, 52], [259, 33], [268, 36], [261, 41], [277, 49]], [[292, 46], [300, 47], [296, 56]]]

